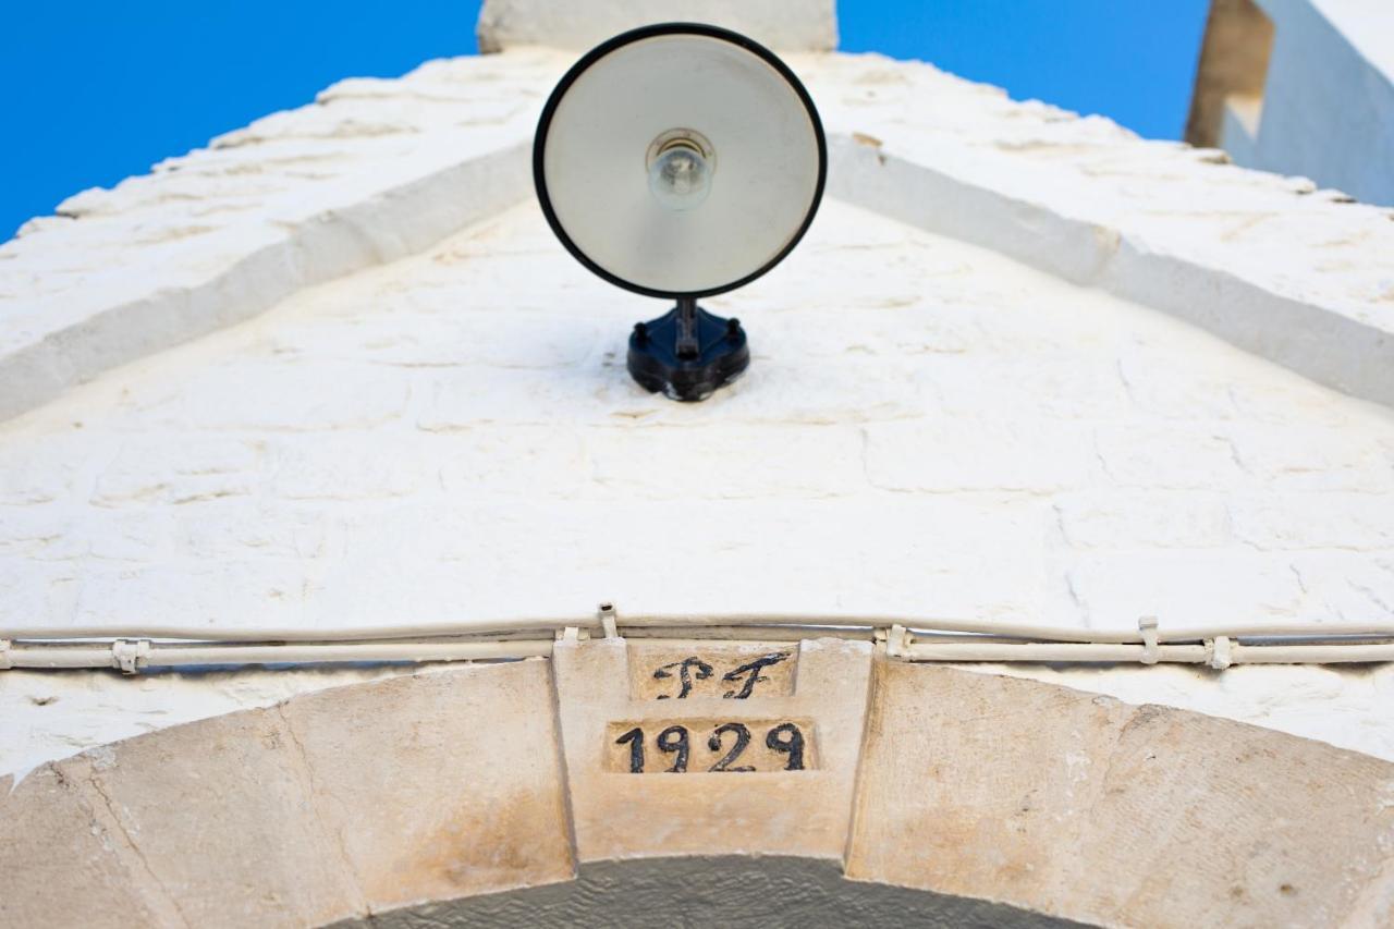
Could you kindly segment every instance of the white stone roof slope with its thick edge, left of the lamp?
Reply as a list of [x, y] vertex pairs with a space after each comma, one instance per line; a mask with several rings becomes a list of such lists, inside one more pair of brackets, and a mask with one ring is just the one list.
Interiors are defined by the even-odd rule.
[[0, 418], [527, 197], [549, 53], [348, 80], [0, 247]]

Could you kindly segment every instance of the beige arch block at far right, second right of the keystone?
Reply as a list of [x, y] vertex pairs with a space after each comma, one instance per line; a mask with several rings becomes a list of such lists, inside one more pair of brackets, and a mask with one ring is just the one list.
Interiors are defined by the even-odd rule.
[[1104, 921], [1333, 925], [1394, 849], [1394, 767], [1319, 742], [1142, 706], [1100, 774], [1065, 886]]

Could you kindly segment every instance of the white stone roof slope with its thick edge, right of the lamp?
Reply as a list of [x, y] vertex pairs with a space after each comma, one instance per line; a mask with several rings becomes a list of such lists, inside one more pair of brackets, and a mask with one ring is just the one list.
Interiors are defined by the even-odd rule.
[[1394, 211], [923, 63], [832, 56], [800, 74], [856, 133], [832, 142], [834, 197], [1394, 403]]

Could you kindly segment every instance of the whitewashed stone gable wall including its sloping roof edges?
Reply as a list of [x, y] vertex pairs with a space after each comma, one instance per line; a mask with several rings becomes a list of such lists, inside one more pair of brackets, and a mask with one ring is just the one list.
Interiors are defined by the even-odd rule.
[[[344, 82], [0, 250], [0, 406], [28, 410], [0, 424], [4, 629], [496, 625], [599, 600], [1391, 618], [1394, 417], [1266, 360], [1390, 396], [1387, 212], [928, 66], [795, 57], [841, 135], [831, 190], [891, 218], [829, 201], [783, 266], [712, 300], [754, 363], [675, 406], [623, 367], [664, 307], [590, 278], [531, 204], [488, 218], [526, 198], [521, 145], [569, 60]], [[1383, 670], [1142, 674], [1057, 679], [1394, 756]], [[244, 679], [230, 703], [283, 695]], [[130, 686], [0, 674], [8, 769], [226, 706]], [[117, 695], [100, 731], [70, 688]]]

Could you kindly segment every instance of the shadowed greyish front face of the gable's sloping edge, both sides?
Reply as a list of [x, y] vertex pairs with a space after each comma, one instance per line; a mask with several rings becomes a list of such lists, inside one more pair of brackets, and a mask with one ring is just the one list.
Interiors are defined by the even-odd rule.
[[[61, 325], [11, 338], [0, 349], [0, 420], [103, 371], [252, 318], [301, 287], [420, 252], [524, 201], [531, 190], [527, 144], [519, 137], [395, 184], [358, 187], [336, 205], [280, 223], [283, 232], [270, 244], [247, 240], [243, 251], [231, 251], [194, 283], [187, 283], [190, 269], [170, 268], [134, 300], [95, 300]], [[1171, 254], [1126, 227], [955, 177], [855, 134], [832, 133], [829, 151], [832, 197], [1098, 286], [1313, 381], [1394, 405], [1394, 325], [1358, 318], [1335, 300], [1282, 293], [1277, 278], [1269, 286]], [[26, 322], [15, 325], [22, 333]]]

